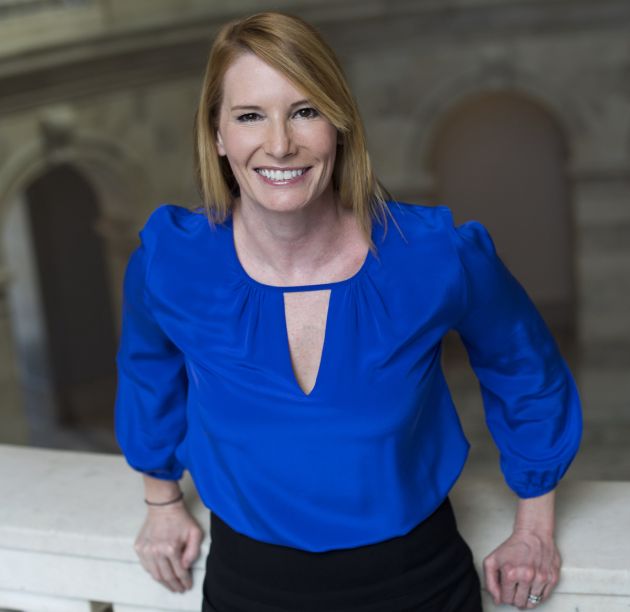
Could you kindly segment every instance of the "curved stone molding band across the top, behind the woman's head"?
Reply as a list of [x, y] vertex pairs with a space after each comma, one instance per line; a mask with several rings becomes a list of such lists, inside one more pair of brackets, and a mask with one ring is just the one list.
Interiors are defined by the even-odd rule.
[[[251, 11], [249, 5], [237, 2], [219, 7], [211, 4], [204, 12], [182, 12], [178, 20], [165, 14], [161, 21], [157, 14], [148, 24], [118, 24], [92, 39], [0, 58], [0, 113], [147, 82], [199, 76], [218, 27], [244, 10]], [[517, 33], [630, 28], [627, 0], [276, 0], [267, 8], [304, 16], [341, 52], [373, 47], [375, 40], [387, 45], [419, 38], [505, 39]]]

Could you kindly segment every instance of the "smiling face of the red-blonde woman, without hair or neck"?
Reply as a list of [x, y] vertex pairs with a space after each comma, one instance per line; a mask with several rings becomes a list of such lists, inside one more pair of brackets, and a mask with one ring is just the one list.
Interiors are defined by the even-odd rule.
[[217, 128], [243, 206], [293, 212], [332, 205], [337, 130], [252, 53], [225, 73]]

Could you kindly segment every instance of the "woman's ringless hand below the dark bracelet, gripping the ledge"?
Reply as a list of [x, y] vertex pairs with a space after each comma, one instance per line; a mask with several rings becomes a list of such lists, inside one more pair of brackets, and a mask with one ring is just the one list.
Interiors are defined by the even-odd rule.
[[190, 567], [199, 556], [203, 531], [183, 501], [151, 506], [134, 548], [142, 567], [166, 588], [192, 588]]

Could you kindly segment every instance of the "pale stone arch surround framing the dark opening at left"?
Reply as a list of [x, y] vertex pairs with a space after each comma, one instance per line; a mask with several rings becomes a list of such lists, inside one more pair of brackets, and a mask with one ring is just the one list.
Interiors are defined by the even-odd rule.
[[[13, 342], [6, 342], [3, 347], [3, 360], [12, 366], [13, 377], [12, 380], [3, 381], [1, 400], [11, 402], [11, 405], [5, 406], [4, 410], [11, 412], [8, 415], [9, 418], [18, 419], [24, 418], [25, 409], [29, 404], [28, 398], [25, 397], [24, 382], [19, 381], [25, 380], [24, 374], [29, 367], [25, 362], [25, 355], [30, 350], [32, 357], [33, 346], [19, 345], [25, 337], [22, 335], [20, 339], [20, 330], [16, 329], [15, 317], [12, 320], [11, 316], [12, 287], [16, 286], [16, 275], [21, 272], [15, 266], [12, 268], [11, 261], [7, 258], [9, 246], [7, 224], [11, 223], [12, 216], [15, 220], [17, 209], [24, 209], [29, 188], [32, 189], [42, 177], [50, 176], [51, 172], [54, 173], [60, 168], [69, 169], [77, 177], [81, 177], [79, 182], [83, 180], [84, 188], [93, 190], [94, 197], [98, 200], [99, 214], [90, 220], [90, 225], [103, 245], [103, 274], [105, 275], [103, 282], [108, 285], [108, 291], [103, 296], [109, 296], [104, 299], [109, 299], [110, 303], [107, 306], [115, 318], [112, 326], [116, 334], [119, 327], [122, 278], [129, 253], [136, 244], [137, 224], [133, 210], [141, 207], [147, 199], [147, 181], [141, 164], [117, 143], [100, 135], [78, 130], [74, 117], [67, 109], [50, 111], [42, 119], [40, 127], [41, 138], [22, 147], [0, 172], [0, 269], [3, 272], [1, 277], [4, 279], [3, 286], [0, 287], [0, 297], [3, 298], [0, 304], [0, 333], [7, 340], [13, 340]], [[23, 214], [22, 217], [24, 217]], [[38, 308], [41, 314], [41, 304], [34, 310]], [[36, 319], [37, 317], [33, 321]], [[42, 327], [40, 317], [38, 323], [30, 326], [29, 333], [33, 335], [37, 328], [41, 332]], [[33, 339], [27, 340], [31, 342]], [[48, 349], [48, 342], [43, 341], [40, 336], [39, 342], [35, 342], [35, 345], [36, 351], [39, 351], [40, 365], [42, 365], [45, 361], [43, 355]], [[46, 374], [46, 369], [44, 364], [40, 371]], [[49, 382], [52, 380], [50, 370], [48, 367]], [[45, 381], [43, 387], [46, 388]], [[48, 389], [50, 390], [50, 385]], [[17, 403], [20, 400], [22, 405], [18, 406]], [[59, 425], [58, 415], [51, 413], [55, 406], [41, 401], [37, 402], [36, 406], [42, 412], [38, 415], [38, 422], [43, 424], [45, 429], [52, 428], [51, 434], [54, 434], [54, 428]], [[32, 415], [29, 420], [36, 420], [31, 417]], [[33, 428], [30, 429], [29, 442], [39, 445], [56, 444], [54, 436], [48, 441], [41, 435], [36, 435], [34, 439]]]

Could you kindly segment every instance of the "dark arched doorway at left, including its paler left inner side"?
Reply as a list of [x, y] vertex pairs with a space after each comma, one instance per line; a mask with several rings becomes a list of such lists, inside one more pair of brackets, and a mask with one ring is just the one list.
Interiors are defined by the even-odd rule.
[[[72, 165], [57, 164], [32, 180], [16, 203], [22, 210], [13, 227], [23, 239], [13, 247], [7, 240], [7, 256], [17, 270], [20, 297], [14, 305], [26, 307], [26, 312], [14, 308], [12, 319], [33, 443], [47, 445], [38, 418], [53, 427], [111, 430], [116, 329], [104, 245], [96, 231], [97, 195]], [[16, 262], [18, 248], [30, 254], [30, 281], [20, 276], [27, 266]], [[20, 285], [28, 282], [30, 289]], [[43, 392], [47, 407], [38, 415], [35, 401]]]

